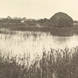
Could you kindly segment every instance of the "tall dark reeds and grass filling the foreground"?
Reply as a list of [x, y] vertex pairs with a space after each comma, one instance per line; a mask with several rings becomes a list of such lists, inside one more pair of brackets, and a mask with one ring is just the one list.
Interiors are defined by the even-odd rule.
[[0, 78], [78, 78], [78, 48], [51, 49], [41, 59], [0, 53]]

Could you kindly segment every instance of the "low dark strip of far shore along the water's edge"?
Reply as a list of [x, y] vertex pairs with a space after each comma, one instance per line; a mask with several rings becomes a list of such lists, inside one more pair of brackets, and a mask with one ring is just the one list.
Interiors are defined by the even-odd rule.
[[46, 26], [24, 26], [24, 25], [17, 25], [17, 26], [3, 26], [0, 27], [0, 33], [9, 33], [8, 31], [34, 31], [34, 32], [50, 32], [52, 35], [55, 36], [72, 36], [73, 34], [78, 34], [78, 27], [46, 27]]

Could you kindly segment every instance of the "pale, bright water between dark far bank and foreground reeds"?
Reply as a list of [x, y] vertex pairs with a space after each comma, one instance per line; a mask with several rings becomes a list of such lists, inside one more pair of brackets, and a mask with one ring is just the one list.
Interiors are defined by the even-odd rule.
[[23, 56], [24, 53], [31, 58], [41, 56], [43, 49], [72, 48], [78, 46], [78, 36], [70, 37], [52, 36], [44, 32], [16, 32], [16, 34], [0, 34], [0, 50], [5, 53]]

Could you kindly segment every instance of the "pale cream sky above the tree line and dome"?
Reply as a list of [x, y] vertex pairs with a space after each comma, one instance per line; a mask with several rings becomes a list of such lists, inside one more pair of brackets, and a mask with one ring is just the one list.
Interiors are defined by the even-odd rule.
[[50, 18], [65, 12], [78, 20], [78, 0], [0, 0], [0, 17]]

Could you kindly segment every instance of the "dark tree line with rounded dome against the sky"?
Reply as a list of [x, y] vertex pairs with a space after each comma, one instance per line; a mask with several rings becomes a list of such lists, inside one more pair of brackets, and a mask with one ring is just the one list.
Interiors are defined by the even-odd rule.
[[[73, 19], [66, 13], [58, 12], [54, 14], [51, 18], [47, 19], [27, 19], [26, 17], [12, 18], [8, 16], [7, 18], [1, 18], [0, 24], [21, 24], [24, 26], [37, 26], [37, 27], [72, 27]], [[77, 22], [75, 22], [77, 23]]]

